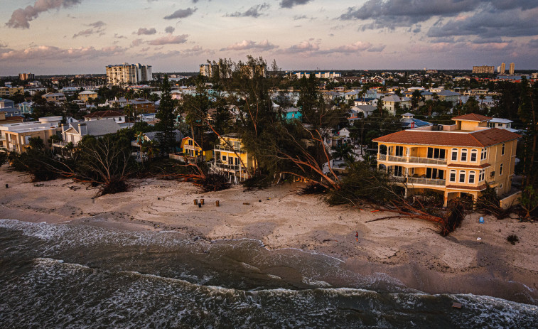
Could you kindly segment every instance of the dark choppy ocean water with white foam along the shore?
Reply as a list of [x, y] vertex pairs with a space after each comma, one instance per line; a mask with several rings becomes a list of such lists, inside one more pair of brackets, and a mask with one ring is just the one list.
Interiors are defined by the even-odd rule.
[[[538, 306], [429, 295], [257, 240], [0, 220], [0, 328], [537, 328]], [[453, 302], [463, 308], [452, 308]]]

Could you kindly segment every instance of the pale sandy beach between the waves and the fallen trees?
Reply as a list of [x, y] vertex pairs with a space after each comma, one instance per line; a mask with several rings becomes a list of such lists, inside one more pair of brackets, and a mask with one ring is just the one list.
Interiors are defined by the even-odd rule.
[[[480, 224], [480, 214], [473, 214], [456, 232], [441, 237], [434, 224], [423, 220], [368, 222], [391, 214], [329, 207], [318, 195], [296, 195], [299, 185], [199, 193], [190, 183], [131, 180], [126, 193], [93, 198], [96, 190], [72, 180], [31, 183], [28, 176], [6, 169], [0, 170], [0, 218], [173, 230], [209, 241], [259, 239], [267, 249], [300, 248], [338, 257], [350, 270], [388, 274], [426, 293], [473, 293], [538, 304], [537, 223], [484, 216]], [[200, 198], [202, 207], [193, 203]], [[520, 242], [507, 242], [510, 234]]]

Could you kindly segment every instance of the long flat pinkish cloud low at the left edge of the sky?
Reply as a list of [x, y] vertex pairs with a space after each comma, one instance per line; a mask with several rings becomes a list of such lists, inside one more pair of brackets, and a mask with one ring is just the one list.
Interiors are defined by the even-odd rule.
[[114, 45], [96, 49], [94, 47], [58, 48], [50, 45], [38, 45], [21, 50], [11, 50], [0, 53], [0, 61], [26, 61], [26, 60], [79, 60], [81, 58], [97, 58], [111, 55], [122, 55], [125, 48]]

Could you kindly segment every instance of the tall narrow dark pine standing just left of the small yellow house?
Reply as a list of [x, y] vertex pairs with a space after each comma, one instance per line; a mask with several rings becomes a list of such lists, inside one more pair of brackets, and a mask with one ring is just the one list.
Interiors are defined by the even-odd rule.
[[168, 75], [164, 76], [161, 94], [161, 105], [156, 114], [159, 122], [156, 124], [156, 129], [159, 131], [157, 139], [160, 144], [161, 152], [171, 153], [176, 146], [176, 134], [174, 133], [174, 105], [171, 96], [170, 82]]

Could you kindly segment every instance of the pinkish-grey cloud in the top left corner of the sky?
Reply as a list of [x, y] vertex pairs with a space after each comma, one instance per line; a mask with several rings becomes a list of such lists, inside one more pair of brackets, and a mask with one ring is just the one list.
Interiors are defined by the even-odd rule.
[[69, 8], [80, 4], [82, 0], [37, 0], [33, 6], [26, 6], [25, 9], [16, 9], [6, 26], [10, 28], [30, 28], [30, 21], [38, 18], [39, 14], [50, 9]]

